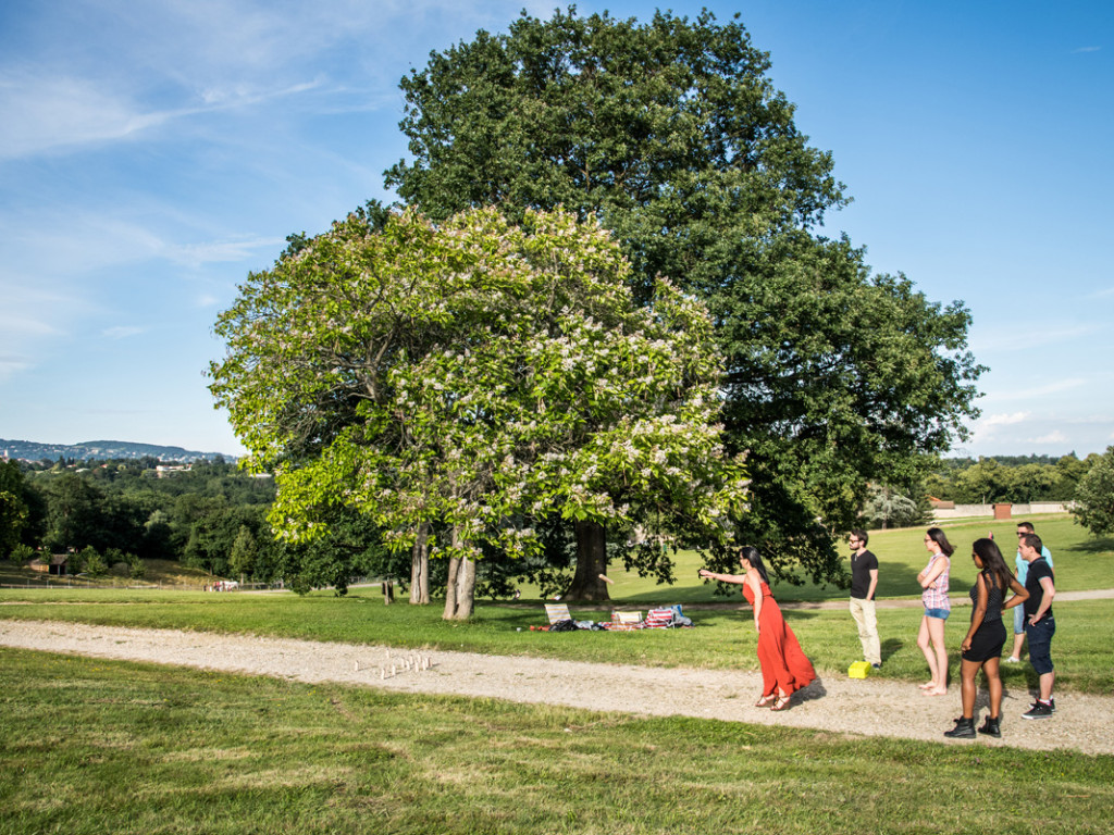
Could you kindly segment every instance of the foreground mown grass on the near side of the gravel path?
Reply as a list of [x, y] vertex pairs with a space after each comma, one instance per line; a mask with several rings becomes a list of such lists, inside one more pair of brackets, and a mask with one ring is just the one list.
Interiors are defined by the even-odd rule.
[[0, 833], [1106, 833], [1114, 758], [0, 650]]

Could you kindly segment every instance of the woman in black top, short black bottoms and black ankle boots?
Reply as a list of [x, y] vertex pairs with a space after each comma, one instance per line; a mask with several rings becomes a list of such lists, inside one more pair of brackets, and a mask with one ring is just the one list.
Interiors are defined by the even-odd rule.
[[[1001, 661], [1001, 648], [1006, 646], [1006, 627], [1001, 622], [1001, 611], [1013, 609], [1028, 600], [1029, 592], [1009, 573], [1001, 551], [993, 539], [975, 540], [975, 544], [971, 546], [971, 559], [979, 574], [975, 578], [975, 584], [970, 590], [971, 625], [959, 646], [964, 715], [956, 719], [956, 727], [944, 731], [944, 736], [974, 738], [977, 694], [975, 676], [981, 669], [986, 688], [990, 692], [990, 713], [978, 733], [1000, 737], [1001, 677], [998, 675], [998, 665]], [[1009, 600], [1003, 602], [1007, 588], [1014, 593]]]

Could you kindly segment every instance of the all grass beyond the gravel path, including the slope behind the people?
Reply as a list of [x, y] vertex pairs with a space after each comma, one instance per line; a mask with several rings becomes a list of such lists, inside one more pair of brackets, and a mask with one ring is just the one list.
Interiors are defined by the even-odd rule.
[[[1114, 542], [1091, 540], [1068, 518], [1035, 520], [1045, 534], [1056, 561], [1056, 584], [1061, 591], [1114, 587]], [[975, 579], [969, 559], [970, 541], [987, 532], [987, 523], [961, 523], [948, 528], [957, 544], [954, 559], [952, 590], [961, 595]], [[1013, 522], [994, 525], [1001, 542], [1016, 541]], [[916, 573], [924, 567], [921, 529], [878, 531], [871, 536], [871, 549], [880, 558], [880, 597], [915, 598], [911, 593], [888, 593], [916, 586]], [[1012, 551], [1008, 557], [1012, 557]], [[467, 650], [499, 655], [530, 655], [567, 660], [685, 666], [707, 668], [754, 668], [755, 637], [749, 611], [741, 610], [737, 592], [732, 598], [713, 597], [713, 587], [696, 579], [696, 557], [680, 554], [691, 562], [691, 571], [678, 571], [678, 584], [663, 590], [637, 577], [616, 574], [614, 606], [645, 611], [646, 597], [654, 590], [653, 602], [682, 602], [697, 625], [692, 630], [651, 630], [639, 632], [539, 633], [530, 626], [545, 622], [540, 600], [515, 605], [480, 601], [476, 616], [467, 623], [441, 619], [439, 603], [412, 607], [404, 600], [383, 606], [377, 587], [358, 588], [345, 598], [332, 592], [315, 592], [304, 598], [291, 593], [204, 593], [186, 591], [144, 591], [109, 589], [2, 589], [0, 618], [75, 620], [114, 626], [166, 629], [196, 629], [218, 632], [253, 633], [355, 644], [382, 644], [398, 647], [424, 647], [439, 650]], [[639, 583], [642, 586], [639, 587]], [[639, 588], [642, 589], [639, 591]], [[780, 590], [782, 600], [792, 599], [799, 587]], [[853, 622], [842, 607], [847, 592], [804, 587], [798, 597], [838, 601], [837, 609], [786, 608], [786, 618], [818, 669], [843, 672], [861, 654]], [[696, 595], [698, 599], [692, 599]], [[730, 600], [731, 602], [725, 602]], [[707, 607], [712, 601], [719, 607]], [[1110, 647], [1114, 646], [1114, 618], [1108, 600], [1057, 602], [1057, 632], [1054, 659], [1057, 687], [1087, 692], [1114, 691], [1114, 668]], [[574, 605], [574, 617], [602, 620], [609, 606]], [[948, 644], [952, 679], [958, 668], [958, 645], [967, 628], [969, 609], [957, 608], [948, 620]], [[925, 660], [916, 646], [920, 625], [919, 608], [879, 609], [883, 669], [881, 675], [900, 680], [925, 676]], [[1028, 665], [1003, 666], [1007, 686], [1033, 686]]]

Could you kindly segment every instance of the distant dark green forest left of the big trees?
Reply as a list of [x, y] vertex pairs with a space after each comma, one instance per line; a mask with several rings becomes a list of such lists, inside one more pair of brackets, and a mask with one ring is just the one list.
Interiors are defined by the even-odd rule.
[[143, 560], [168, 559], [294, 587], [343, 588], [350, 571], [391, 570], [378, 537], [354, 520], [338, 520], [333, 536], [312, 547], [276, 542], [266, 520], [270, 478], [226, 461], [169, 466], [152, 456], [0, 462], [0, 558], [69, 553], [71, 573], [126, 562], [137, 577]]

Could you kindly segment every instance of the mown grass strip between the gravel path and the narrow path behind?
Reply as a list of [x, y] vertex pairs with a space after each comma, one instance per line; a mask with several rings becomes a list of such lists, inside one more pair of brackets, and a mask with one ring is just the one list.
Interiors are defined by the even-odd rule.
[[[46, 593], [46, 592], [40, 592]], [[1056, 607], [1053, 647], [1057, 687], [1086, 692], [1114, 691], [1112, 601], [1083, 600]], [[574, 617], [599, 619], [604, 612], [570, 608]], [[966, 633], [969, 608], [956, 609], [947, 636], [952, 679], [958, 680], [958, 645]], [[882, 676], [898, 680], [925, 677], [917, 648], [919, 608], [879, 609]], [[565, 660], [638, 664], [663, 667], [756, 669], [756, 637], [749, 610], [737, 607], [690, 610], [696, 628], [636, 632], [535, 632], [545, 623], [540, 603], [481, 605], [469, 622], [441, 619], [439, 606], [383, 606], [378, 592], [356, 589], [336, 598], [317, 592], [293, 595], [160, 595], [145, 602], [43, 601], [0, 606], [0, 618], [42, 619], [164, 629], [195, 629], [353, 644], [422, 647], [496, 655], [529, 655]], [[838, 609], [785, 609], [805, 652], [820, 670], [843, 674], [859, 660], [854, 623]], [[1003, 666], [1007, 686], [1035, 685], [1029, 666]]]

